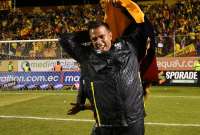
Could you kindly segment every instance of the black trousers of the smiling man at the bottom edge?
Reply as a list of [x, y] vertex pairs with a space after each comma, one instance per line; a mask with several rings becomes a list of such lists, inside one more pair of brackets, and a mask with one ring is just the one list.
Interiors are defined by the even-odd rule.
[[144, 119], [128, 127], [94, 127], [91, 135], [144, 135]]

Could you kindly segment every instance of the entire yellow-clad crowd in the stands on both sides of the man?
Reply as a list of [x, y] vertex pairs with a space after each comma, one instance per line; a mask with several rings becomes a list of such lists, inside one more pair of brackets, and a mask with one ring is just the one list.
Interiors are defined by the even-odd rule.
[[[200, 56], [200, 1], [178, 1], [174, 5], [141, 6], [155, 27], [157, 54], [165, 56], [195, 43]], [[0, 13], [0, 40], [54, 39], [63, 32], [85, 29], [91, 20], [103, 19], [99, 4], [16, 9]], [[175, 42], [174, 42], [175, 41]], [[0, 43], [0, 54], [38, 58], [61, 57], [57, 42]], [[8, 47], [9, 46], [9, 47]], [[174, 47], [175, 46], [175, 47]]]

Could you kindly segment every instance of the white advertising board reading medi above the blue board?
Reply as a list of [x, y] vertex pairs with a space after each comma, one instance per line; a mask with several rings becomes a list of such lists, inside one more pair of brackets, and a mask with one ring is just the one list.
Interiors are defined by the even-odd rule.
[[19, 60], [18, 71], [23, 71], [26, 63], [29, 63], [31, 71], [53, 71], [56, 62], [60, 61], [63, 71], [78, 70], [78, 64], [74, 59], [54, 59], [54, 60]]

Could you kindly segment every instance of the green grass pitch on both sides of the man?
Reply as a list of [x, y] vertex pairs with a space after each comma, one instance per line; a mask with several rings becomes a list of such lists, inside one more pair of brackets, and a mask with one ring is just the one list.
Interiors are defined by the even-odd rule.
[[[0, 135], [89, 135], [90, 111], [67, 116], [75, 91], [0, 91]], [[199, 135], [200, 88], [152, 87], [145, 135]]]

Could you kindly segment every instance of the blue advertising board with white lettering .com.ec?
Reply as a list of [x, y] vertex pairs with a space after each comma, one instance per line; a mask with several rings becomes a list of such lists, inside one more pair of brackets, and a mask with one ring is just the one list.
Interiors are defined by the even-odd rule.
[[0, 84], [7, 86], [13, 84], [24, 85], [74, 85], [79, 83], [80, 72], [1, 72]]

